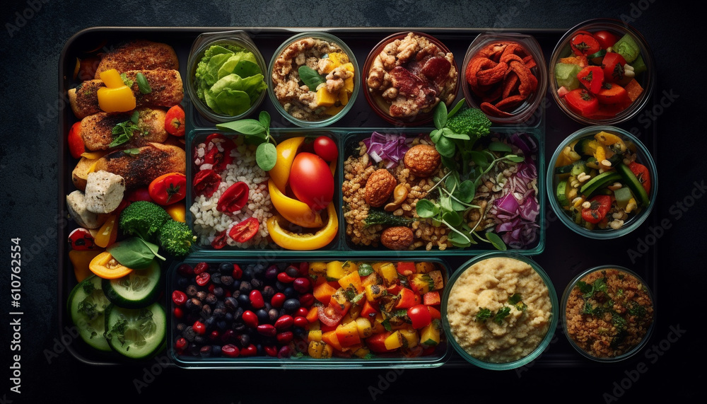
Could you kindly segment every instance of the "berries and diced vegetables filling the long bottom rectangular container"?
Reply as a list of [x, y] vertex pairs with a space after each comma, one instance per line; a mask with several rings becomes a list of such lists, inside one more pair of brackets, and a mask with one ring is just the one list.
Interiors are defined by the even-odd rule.
[[433, 262], [199, 262], [176, 273], [182, 358], [421, 357], [443, 342], [445, 274]]

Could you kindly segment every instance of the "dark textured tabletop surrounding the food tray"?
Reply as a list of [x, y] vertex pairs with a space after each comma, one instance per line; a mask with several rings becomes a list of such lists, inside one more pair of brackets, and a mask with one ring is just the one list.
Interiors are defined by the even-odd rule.
[[[388, 371], [185, 371], [166, 369], [141, 394], [134, 379], [142, 379], [141, 367], [90, 367], [68, 352], [48, 361], [59, 336], [57, 321], [57, 158], [59, 54], [67, 40], [83, 28], [93, 26], [220, 26], [220, 27], [450, 27], [506, 28], [518, 30], [571, 28], [589, 18], [632, 18], [631, 23], [646, 37], [656, 60], [657, 102], [662, 94], [677, 95], [658, 120], [658, 148], [654, 150], [660, 171], [660, 191], [654, 223], [670, 225], [658, 238], [657, 259], [660, 292], [659, 323], [653, 342], [662, 354], [648, 362], [638, 374], [636, 362], [616, 366], [567, 369], [530, 368], [517, 372], [482, 371], [472, 367], [406, 370], [378, 402], [419, 400], [504, 401], [533, 398], [607, 402], [604, 393], [619, 395], [621, 403], [655, 397], [658, 391], [670, 398], [704, 397], [701, 320], [705, 279], [704, 199], [677, 215], [677, 204], [689, 195], [701, 196], [696, 187], [705, 180], [704, 164], [704, 74], [703, 20], [686, 2], [635, 1], [9, 1], [1, 6], [0, 33], [0, 231], [4, 250], [10, 238], [22, 238], [22, 394], [9, 391], [7, 367], [0, 372], [0, 402], [37, 403], [43, 398], [57, 403], [147, 403], [176, 393], [179, 402], [276, 403], [276, 402], [368, 402], [369, 387], [380, 388]], [[693, 3], [694, 4], [694, 3]], [[34, 7], [34, 8], [33, 8]], [[18, 16], [25, 15], [25, 19]], [[15, 24], [18, 30], [10, 28]], [[362, 61], [360, 61], [362, 62]], [[664, 100], [665, 103], [665, 100]], [[60, 105], [59, 105], [60, 107]], [[652, 105], [649, 105], [652, 108]], [[547, 148], [551, 153], [553, 146]], [[700, 191], [701, 190], [701, 191]], [[689, 199], [688, 199], [689, 201]], [[647, 240], [650, 227], [626, 236], [621, 243], [636, 248]], [[566, 246], [588, 255], [580, 245]], [[554, 262], [547, 248], [539, 260]], [[0, 362], [9, 362], [11, 332], [8, 323], [10, 270], [0, 262]], [[561, 290], [559, 291], [561, 293]], [[668, 343], [672, 328], [684, 335]], [[559, 335], [559, 337], [563, 337]], [[660, 345], [662, 343], [662, 345]], [[17, 352], [13, 352], [17, 353]], [[644, 361], [646, 362], [646, 361]], [[638, 378], [636, 375], [638, 374]], [[633, 376], [634, 380], [629, 378]], [[617, 386], [624, 386], [617, 389]], [[7, 386], [7, 387], [4, 387]], [[6, 401], [5, 401], [6, 399]], [[196, 401], [198, 400], [198, 401]]]

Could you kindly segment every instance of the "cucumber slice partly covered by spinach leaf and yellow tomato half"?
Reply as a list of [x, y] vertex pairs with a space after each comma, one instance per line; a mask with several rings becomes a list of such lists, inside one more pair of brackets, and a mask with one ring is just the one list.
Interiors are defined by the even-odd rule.
[[103, 279], [102, 287], [110, 303], [124, 308], [143, 308], [153, 304], [160, 292], [162, 270], [156, 260], [144, 270], [124, 277]]

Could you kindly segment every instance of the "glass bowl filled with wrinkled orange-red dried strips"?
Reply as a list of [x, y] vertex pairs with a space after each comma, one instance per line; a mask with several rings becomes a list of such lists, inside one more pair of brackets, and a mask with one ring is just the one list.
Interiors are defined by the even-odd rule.
[[469, 45], [463, 66], [467, 105], [497, 124], [530, 120], [547, 90], [545, 57], [531, 35], [482, 33]]

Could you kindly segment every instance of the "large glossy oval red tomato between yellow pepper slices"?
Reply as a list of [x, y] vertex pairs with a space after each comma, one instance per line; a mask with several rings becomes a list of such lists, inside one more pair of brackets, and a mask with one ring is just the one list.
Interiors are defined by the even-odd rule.
[[298, 200], [322, 210], [334, 197], [334, 175], [320, 156], [300, 153], [290, 168], [290, 187]]

